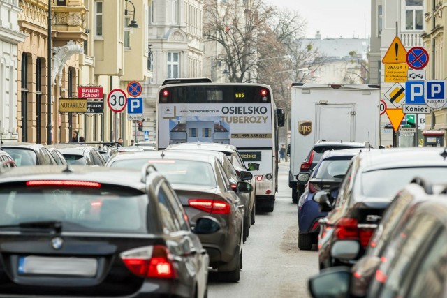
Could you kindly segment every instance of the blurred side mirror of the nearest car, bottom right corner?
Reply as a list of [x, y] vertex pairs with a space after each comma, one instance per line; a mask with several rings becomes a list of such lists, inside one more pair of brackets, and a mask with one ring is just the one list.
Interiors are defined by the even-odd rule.
[[314, 298], [349, 297], [351, 268], [331, 267], [309, 278], [309, 291]]

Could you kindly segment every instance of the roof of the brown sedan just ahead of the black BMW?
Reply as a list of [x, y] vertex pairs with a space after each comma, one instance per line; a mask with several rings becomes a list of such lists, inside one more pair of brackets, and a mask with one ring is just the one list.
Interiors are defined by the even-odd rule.
[[112, 161], [124, 161], [124, 160], [132, 160], [139, 158], [166, 158], [166, 159], [180, 159], [186, 161], [204, 161], [207, 163], [212, 163], [215, 161], [216, 156], [213, 154], [203, 154], [200, 152], [189, 152], [183, 150], [159, 150], [159, 151], [142, 151], [135, 152], [133, 154], [121, 154], [118, 153], [110, 160], [108, 163]]

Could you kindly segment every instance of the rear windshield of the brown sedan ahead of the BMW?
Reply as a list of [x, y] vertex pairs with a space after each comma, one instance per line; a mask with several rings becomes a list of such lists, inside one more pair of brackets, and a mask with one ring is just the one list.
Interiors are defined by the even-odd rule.
[[216, 187], [216, 179], [210, 163], [169, 159], [135, 158], [115, 161], [110, 166], [141, 169], [145, 163], [152, 163], [157, 172], [172, 184], [193, 184]]

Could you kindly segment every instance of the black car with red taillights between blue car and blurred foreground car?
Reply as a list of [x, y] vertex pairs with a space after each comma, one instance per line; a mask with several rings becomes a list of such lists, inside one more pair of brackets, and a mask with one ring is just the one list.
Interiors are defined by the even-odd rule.
[[[372, 149], [358, 154], [346, 172], [335, 199], [328, 191], [319, 191], [314, 200], [321, 211], [330, 211], [320, 220], [318, 260], [320, 268], [353, 265], [365, 253], [383, 211], [395, 194], [417, 175], [434, 183], [447, 175], [447, 152], [439, 148]], [[352, 258], [335, 258], [333, 251], [358, 241], [358, 253]]]

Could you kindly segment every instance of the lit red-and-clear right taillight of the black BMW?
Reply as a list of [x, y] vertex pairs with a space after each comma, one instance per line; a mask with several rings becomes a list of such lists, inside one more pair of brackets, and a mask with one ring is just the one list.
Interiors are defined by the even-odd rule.
[[156, 245], [125, 251], [120, 255], [133, 274], [148, 278], [176, 278], [168, 248]]

